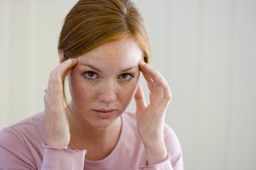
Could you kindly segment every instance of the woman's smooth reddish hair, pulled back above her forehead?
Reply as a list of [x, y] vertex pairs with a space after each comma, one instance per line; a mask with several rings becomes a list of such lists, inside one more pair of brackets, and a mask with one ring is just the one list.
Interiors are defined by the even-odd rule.
[[145, 24], [132, 1], [80, 0], [66, 16], [58, 50], [72, 58], [123, 37], [134, 39], [143, 51], [143, 60], [150, 62]]

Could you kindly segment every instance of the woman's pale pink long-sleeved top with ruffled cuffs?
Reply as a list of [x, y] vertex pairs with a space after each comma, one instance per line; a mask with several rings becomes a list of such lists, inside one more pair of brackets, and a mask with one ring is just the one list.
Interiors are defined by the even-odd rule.
[[0, 169], [183, 169], [182, 150], [177, 136], [165, 124], [168, 158], [147, 166], [147, 156], [137, 133], [136, 117], [124, 113], [122, 132], [114, 150], [102, 160], [85, 160], [86, 150], [44, 146], [46, 127], [44, 112], [14, 124], [0, 132]]

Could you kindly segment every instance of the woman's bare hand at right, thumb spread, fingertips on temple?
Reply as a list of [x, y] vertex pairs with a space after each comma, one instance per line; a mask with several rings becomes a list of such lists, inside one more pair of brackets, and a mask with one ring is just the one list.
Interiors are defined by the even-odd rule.
[[154, 165], [167, 158], [164, 124], [171, 91], [165, 78], [150, 65], [139, 61], [139, 68], [150, 89], [150, 104], [145, 105], [142, 88], [138, 86], [134, 95], [137, 105], [137, 129], [145, 146], [147, 163]]

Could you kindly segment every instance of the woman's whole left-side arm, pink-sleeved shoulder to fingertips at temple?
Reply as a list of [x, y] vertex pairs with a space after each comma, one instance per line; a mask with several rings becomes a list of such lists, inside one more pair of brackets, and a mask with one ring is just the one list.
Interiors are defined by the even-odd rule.
[[63, 79], [76, 63], [64, 61], [51, 72], [44, 97], [47, 146], [40, 146], [27, 126], [5, 129], [0, 133], [0, 169], [83, 169], [85, 151], [67, 150], [70, 132], [62, 101]]

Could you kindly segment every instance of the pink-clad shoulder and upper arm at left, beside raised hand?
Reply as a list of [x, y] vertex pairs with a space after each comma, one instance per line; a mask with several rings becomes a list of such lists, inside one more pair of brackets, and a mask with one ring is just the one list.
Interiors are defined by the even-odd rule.
[[[44, 113], [8, 126], [0, 131], [0, 169], [25, 166], [35, 169], [42, 159], [45, 138]], [[4, 155], [4, 156], [3, 156]]]

